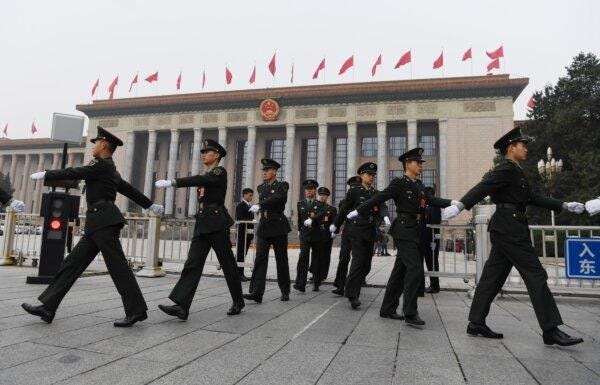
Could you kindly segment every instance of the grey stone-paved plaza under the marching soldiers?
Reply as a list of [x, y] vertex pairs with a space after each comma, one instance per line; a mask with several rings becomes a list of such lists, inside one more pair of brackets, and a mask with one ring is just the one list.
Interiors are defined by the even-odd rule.
[[[0, 267], [1, 384], [598, 384], [600, 300], [557, 297], [571, 348], [542, 343], [526, 296], [505, 295], [489, 324], [504, 340], [465, 333], [470, 300], [445, 291], [421, 299], [421, 329], [379, 317], [383, 289], [363, 290], [352, 310], [330, 292], [292, 291], [275, 283], [264, 302], [225, 315], [221, 278], [204, 277], [187, 322], [157, 310], [178, 276], [138, 278], [150, 308], [131, 329], [107, 275], [78, 280], [51, 325], [25, 314], [44, 286], [25, 284], [31, 268]], [[248, 284], [244, 284], [247, 291]]]

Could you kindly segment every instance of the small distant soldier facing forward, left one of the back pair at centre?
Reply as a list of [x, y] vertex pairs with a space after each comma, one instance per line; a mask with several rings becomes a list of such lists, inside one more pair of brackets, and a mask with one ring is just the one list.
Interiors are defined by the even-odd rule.
[[317, 200], [316, 189], [319, 186], [316, 180], [307, 179], [302, 183], [305, 199], [298, 202], [298, 233], [300, 236], [300, 254], [294, 289], [304, 293], [306, 277], [308, 275], [309, 259], [313, 267], [313, 291], [319, 291], [321, 284], [321, 258], [323, 252], [323, 232], [321, 221], [325, 214], [325, 206]]

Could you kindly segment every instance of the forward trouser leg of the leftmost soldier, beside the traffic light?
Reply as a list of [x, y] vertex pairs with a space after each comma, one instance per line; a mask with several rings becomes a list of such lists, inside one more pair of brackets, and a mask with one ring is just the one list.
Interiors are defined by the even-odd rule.
[[99, 251], [100, 249], [89, 236], [81, 237], [73, 251], [60, 264], [52, 283], [38, 297], [40, 302], [49, 310], [56, 311], [64, 296], [96, 258]]

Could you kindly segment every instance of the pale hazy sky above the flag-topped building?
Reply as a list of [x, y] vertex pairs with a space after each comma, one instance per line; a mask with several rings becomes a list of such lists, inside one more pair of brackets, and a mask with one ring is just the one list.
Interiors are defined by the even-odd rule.
[[[600, 1], [4, 1], [0, 6], [0, 131], [11, 138], [50, 135], [53, 112], [75, 113], [91, 101], [100, 78], [106, 98], [118, 74], [116, 97], [198, 92], [203, 68], [205, 91], [225, 89], [225, 63], [233, 72], [228, 89], [287, 86], [292, 61], [296, 85], [409, 79], [410, 67], [394, 70], [412, 49], [413, 78], [463, 76], [471, 64], [462, 54], [473, 48], [473, 74], [486, 72], [491, 51], [504, 44], [500, 72], [529, 77], [515, 102], [524, 118], [531, 94], [564, 75], [578, 52], [600, 55]], [[444, 71], [432, 69], [444, 50]], [[267, 63], [277, 51], [275, 81]], [[355, 54], [355, 69], [343, 76], [342, 62]], [[325, 79], [311, 76], [326, 55]], [[156, 70], [159, 83], [143, 78]], [[140, 74], [138, 89], [129, 83]], [[496, 71], [497, 73], [498, 71]]]

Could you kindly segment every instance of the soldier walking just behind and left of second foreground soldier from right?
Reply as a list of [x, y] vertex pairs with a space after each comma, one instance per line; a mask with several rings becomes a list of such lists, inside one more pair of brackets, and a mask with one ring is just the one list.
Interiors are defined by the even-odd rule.
[[[367, 201], [377, 191], [373, 188], [373, 181], [377, 174], [377, 165], [373, 162], [367, 162], [358, 168], [357, 174], [360, 175], [362, 185], [351, 188], [346, 193], [344, 206], [341, 212], [355, 210], [359, 205]], [[346, 279], [344, 293], [353, 309], [360, 306], [358, 297], [360, 289], [365, 278], [365, 271], [370, 270], [371, 259], [373, 257], [373, 247], [375, 244], [375, 228], [377, 219], [382, 215], [384, 205], [373, 205], [369, 212], [357, 218], [348, 218], [352, 228], [350, 230], [350, 242], [352, 247], [352, 262], [350, 263], [350, 272]], [[387, 210], [386, 210], [387, 211]], [[390, 219], [383, 217], [386, 225], [390, 225]], [[344, 222], [344, 219], [338, 215], [335, 223], [331, 225], [330, 232], [335, 232]]]

